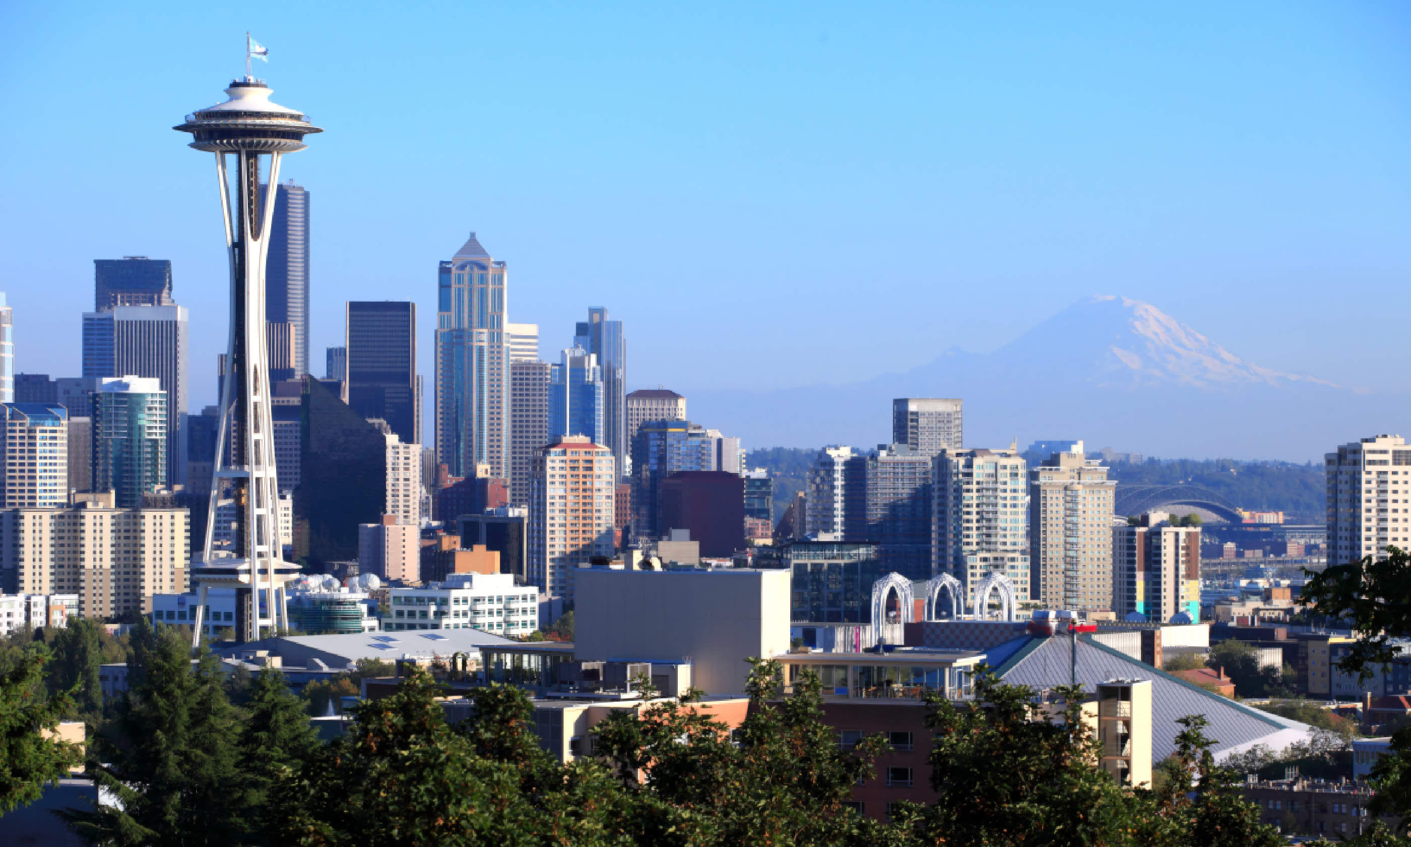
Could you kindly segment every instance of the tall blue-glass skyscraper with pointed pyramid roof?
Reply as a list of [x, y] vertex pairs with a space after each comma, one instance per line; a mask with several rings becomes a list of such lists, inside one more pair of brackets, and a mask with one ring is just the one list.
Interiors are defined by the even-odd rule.
[[437, 270], [436, 462], [452, 476], [509, 476], [505, 263], [476, 233]]

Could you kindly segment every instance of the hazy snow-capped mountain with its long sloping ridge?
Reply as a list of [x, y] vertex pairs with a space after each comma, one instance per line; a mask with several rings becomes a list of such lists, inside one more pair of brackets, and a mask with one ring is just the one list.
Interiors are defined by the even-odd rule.
[[967, 446], [1082, 438], [1147, 455], [1321, 457], [1398, 432], [1403, 395], [1373, 398], [1235, 356], [1157, 306], [1092, 296], [993, 353], [950, 349], [909, 371], [847, 385], [691, 391], [690, 418], [748, 446], [875, 446], [895, 397], [959, 397]]

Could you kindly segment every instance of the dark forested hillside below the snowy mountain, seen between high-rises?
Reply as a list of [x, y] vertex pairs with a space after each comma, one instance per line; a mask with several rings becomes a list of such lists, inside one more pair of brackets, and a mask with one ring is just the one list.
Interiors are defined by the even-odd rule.
[[[794, 491], [801, 491], [817, 449], [768, 447], [751, 450], [749, 467], [763, 467], [775, 479], [775, 519]], [[1291, 522], [1324, 519], [1324, 466], [1292, 462], [1236, 462], [1233, 459], [1147, 459], [1139, 464], [1115, 462], [1112, 479], [1127, 486], [1192, 484], [1209, 488], [1240, 508], [1277, 510]]]

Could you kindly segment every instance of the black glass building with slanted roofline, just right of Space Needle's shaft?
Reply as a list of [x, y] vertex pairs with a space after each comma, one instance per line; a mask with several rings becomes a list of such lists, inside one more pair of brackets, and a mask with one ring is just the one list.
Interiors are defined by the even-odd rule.
[[387, 507], [387, 436], [313, 377], [299, 402], [295, 558], [313, 570], [357, 558], [357, 525]]

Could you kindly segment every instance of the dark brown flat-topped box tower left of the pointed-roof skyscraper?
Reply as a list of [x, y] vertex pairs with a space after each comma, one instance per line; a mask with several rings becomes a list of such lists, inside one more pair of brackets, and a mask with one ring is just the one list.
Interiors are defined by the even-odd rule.
[[422, 443], [416, 304], [349, 301], [344, 337], [349, 405], [387, 421], [402, 443]]

